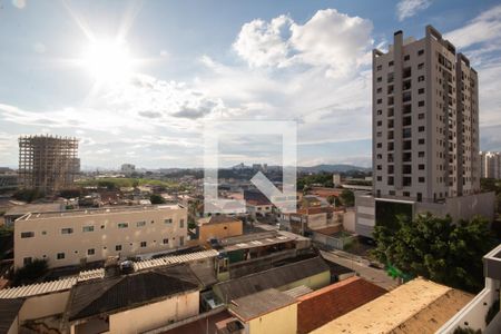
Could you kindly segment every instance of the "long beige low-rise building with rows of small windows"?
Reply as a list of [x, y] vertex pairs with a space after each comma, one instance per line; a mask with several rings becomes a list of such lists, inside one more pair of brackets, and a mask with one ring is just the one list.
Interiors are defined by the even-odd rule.
[[27, 214], [14, 224], [14, 266], [35, 258], [50, 267], [138, 256], [183, 247], [187, 209], [132, 206]]

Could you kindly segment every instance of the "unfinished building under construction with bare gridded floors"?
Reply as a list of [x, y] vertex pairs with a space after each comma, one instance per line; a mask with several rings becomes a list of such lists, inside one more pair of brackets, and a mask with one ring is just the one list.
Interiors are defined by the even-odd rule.
[[19, 184], [52, 194], [71, 188], [80, 170], [78, 139], [57, 136], [19, 137]]

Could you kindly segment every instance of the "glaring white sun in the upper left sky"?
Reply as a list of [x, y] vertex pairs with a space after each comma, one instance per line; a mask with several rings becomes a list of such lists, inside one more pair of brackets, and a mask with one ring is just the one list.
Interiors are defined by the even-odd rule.
[[95, 41], [85, 51], [82, 62], [100, 82], [122, 81], [132, 71], [132, 58], [126, 42]]

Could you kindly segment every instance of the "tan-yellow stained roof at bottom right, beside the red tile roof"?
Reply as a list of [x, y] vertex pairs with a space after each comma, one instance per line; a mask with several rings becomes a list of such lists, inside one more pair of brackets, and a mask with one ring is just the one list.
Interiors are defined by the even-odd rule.
[[[423, 333], [424, 326], [433, 326], [436, 330], [441, 323], [436, 322], [434, 314], [441, 305], [439, 312], [449, 314], [451, 310], [461, 308], [468, 301], [466, 298], [451, 298], [451, 295], [458, 296], [462, 292], [426, 281], [415, 278], [406, 284], [399, 286], [392, 292], [366, 303], [365, 305], [325, 324], [312, 333], [387, 333], [392, 331], [405, 332], [403, 327], [406, 322], [413, 322], [412, 317], [420, 316], [416, 333]], [[443, 299], [438, 302], [439, 299]], [[438, 304], [434, 304], [438, 302]], [[464, 303], [464, 304], [463, 304]], [[428, 310], [428, 311], [426, 311]], [[455, 312], [451, 312], [451, 315]], [[450, 317], [449, 316], [449, 317]], [[415, 323], [418, 325], [418, 323]], [[424, 331], [426, 332], [426, 331]], [[431, 331], [434, 332], [434, 331]], [[410, 332], [414, 333], [414, 332]]]

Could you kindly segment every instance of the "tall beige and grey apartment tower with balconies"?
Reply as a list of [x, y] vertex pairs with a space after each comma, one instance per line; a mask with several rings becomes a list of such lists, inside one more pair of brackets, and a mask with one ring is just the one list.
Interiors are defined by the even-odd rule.
[[428, 26], [373, 51], [376, 197], [436, 202], [480, 190], [477, 71]]

